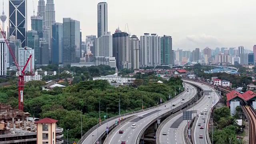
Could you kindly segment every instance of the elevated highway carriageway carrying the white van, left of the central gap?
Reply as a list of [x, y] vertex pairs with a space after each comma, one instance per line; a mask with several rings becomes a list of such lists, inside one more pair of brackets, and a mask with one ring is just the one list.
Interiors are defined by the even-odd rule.
[[[188, 86], [192, 88], [191, 85], [185, 84], [185, 88], [187, 88]], [[191, 97], [195, 95], [195, 92], [196, 90], [194, 90], [194, 93], [191, 93]], [[182, 94], [182, 97], [184, 98], [184, 103], [186, 103], [190, 100], [190, 92], [184, 92], [184, 94]], [[160, 116], [174, 108], [172, 107], [172, 104], [175, 104], [175, 107], [180, 106], [181, 96], [172, 100], [172, 103], [166, 104], [166, 107], [159, 106], [159, 111], [158, 108], [156, 108], [154, 110], [142, 114], [143, 118], [135, 118], [130, 122], [126, 122], [126, 124], [124, 124], [121, 128], [119, 128], [109, 136], [109, 139], [106, 141], [106, 144], [121, 144], [121, 141], [123, 140], [126, 141], [126, 144], [135, 144], [136, 138], [140, 134], [141, 130], [152, 120], [156, 119], [158, 115]], [[136, 124], [136, 128], [131, 128], [132, 124]], [[119, 130], [124, 130], [124, 134], [119, 134]]]

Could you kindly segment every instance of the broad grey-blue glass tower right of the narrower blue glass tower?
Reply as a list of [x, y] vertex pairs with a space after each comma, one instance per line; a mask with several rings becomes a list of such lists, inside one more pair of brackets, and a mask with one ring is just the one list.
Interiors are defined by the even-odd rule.
[[80, 62], [80, 22], [63, 18], [63, 64]]

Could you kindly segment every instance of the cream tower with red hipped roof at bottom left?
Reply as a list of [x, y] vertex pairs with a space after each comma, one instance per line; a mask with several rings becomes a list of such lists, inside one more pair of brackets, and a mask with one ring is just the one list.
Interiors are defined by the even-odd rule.
[[37, 144], [56, 144], [56, 122], [51, 118], [43, 118], [37, 124], [36, 143]]

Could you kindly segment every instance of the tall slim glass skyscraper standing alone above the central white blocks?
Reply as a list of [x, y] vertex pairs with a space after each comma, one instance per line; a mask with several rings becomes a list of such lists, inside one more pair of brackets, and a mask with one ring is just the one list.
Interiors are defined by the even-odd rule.
[[108, 4], [100, 2], [97, 5], [98, 38], [108, 32]]

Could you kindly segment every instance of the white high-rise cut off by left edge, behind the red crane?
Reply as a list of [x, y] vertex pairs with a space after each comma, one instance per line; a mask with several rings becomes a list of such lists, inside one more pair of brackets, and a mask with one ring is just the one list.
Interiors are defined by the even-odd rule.
[[7, 60], [6, 60], [6, 53], [7, 45], [4, 40], [0, 40], [0, 77], [6, 76], [7, 72]]

